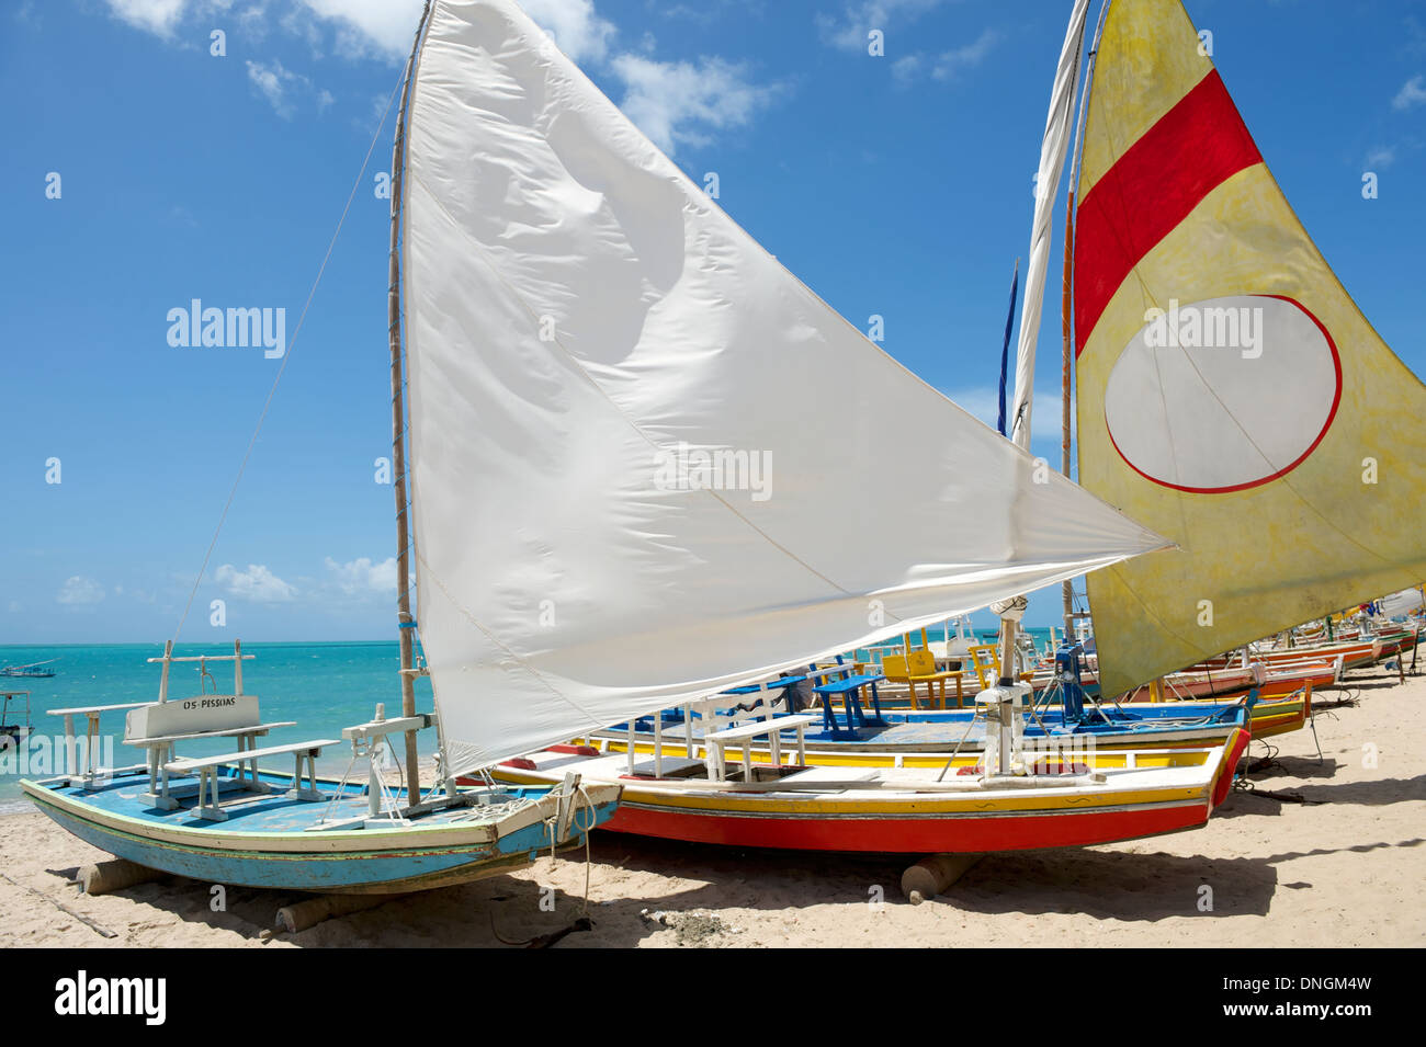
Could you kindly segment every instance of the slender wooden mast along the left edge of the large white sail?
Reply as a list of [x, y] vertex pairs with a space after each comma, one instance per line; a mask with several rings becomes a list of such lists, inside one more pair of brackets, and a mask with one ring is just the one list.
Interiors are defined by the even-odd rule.
[[[386, 333], [391, 343], [391, 464], [392, 487], [396, 493], [396, 634], [401, 642], [401, 715], [416, 715], [415, 642], [411, 617], [411, 514], [406, 499], [406, 410], [401, 355], [401, 205], [402, 178], [406, 160], [406, 100], [411, 77], [416, 67], [416, 51], [431, 14], [431, 0], [421, 11], [416, 38], [406, 60], [406, 78], [401, 87], [401, 107], [396, 110], [396, 140], [391, 150], [391, 258], [386, 288]], [[416, 764], [416, 732], [406, 731], [406, 802], [421, 801], [421, 768]]]

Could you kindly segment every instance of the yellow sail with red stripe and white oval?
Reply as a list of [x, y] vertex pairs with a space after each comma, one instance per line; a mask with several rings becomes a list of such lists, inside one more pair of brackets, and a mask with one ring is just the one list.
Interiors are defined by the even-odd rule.
[[1179, 0], [1114, 0], [1088, 101], [1079, 483], [1178, 543], [1089, 575], [1105, 694], [1426, 575], [1426, 387], [1204, 50]]

